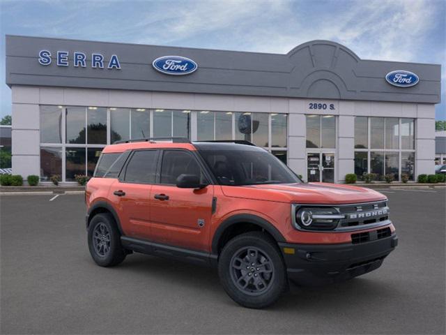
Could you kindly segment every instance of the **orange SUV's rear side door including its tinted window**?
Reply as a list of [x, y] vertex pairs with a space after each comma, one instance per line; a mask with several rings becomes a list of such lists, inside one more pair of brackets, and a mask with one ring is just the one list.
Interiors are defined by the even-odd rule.
[[151, 188], [155, 182], [159, 150], [133, 151], [119, 179], [110, 188], [110, 197], [128, 237], [151, 238]]

